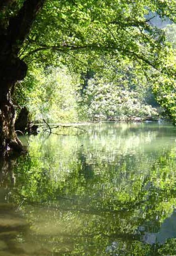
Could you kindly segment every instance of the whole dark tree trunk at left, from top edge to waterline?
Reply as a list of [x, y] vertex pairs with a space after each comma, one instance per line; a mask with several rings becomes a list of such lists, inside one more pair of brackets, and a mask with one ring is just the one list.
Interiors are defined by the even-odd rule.
[[[6, 1], [1, 6], [8, 8]], [[14, 2], [14, 1], [13, 1]], [[45, 0], [25, 0], [16, 16], [6, 22], [0, 21], [0, 155], [9, 151], [22, 151], [23, 145], [15, 133], [15, 108], [11, 95], [17, 81], [23, 80], [27, 65], [18, 54], [32, 27], [33, 21]], [[3, 10], [3, 8], [2, 8]]]

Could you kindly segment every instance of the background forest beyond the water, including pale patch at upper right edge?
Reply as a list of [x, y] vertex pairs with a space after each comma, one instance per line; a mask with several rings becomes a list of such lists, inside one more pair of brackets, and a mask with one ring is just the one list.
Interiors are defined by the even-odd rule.
[[[154, 25], [166, 34], [174, 63], [176, 24], [156, 18]], [[48, 54], [40, 54], [44, 65], [27, 56], [27, 76], [18, 82], [13, 96], [18, 112], [26, 106], [33, 122], [43, 122], [43, 119], [50, 123], [157, 121], [160, 118], [173, 121], [175, 92], [172, 86], [161, 86], [163, 82], [168, 83], [167, 78], [160, 76], [160, 80], [155, 80], [153, 70], [145, 70], [139, 62], [127, 57], [118, 61], [102, 54], [98, 63], [94, 56], [89, 56], [85, 65], [85, 57], [65, 59], [57, 55], [53, 56], [55, 63], [50, 64], [46, 63]]]

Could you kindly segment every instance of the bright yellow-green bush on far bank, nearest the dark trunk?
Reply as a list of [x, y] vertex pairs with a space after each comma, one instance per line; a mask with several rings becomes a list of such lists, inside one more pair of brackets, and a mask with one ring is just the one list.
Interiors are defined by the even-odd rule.
[[18, 84], [14, 100], [19, 106], [27, 106], [35, 122], [43, 122], [43, 118], [48, 122], [75, 122], [78, 120], [78, 86], [78, 78], [71, 76], [65, 67], [33, 68]]

